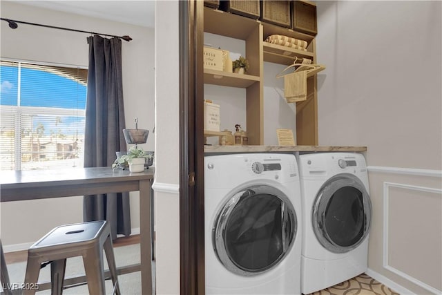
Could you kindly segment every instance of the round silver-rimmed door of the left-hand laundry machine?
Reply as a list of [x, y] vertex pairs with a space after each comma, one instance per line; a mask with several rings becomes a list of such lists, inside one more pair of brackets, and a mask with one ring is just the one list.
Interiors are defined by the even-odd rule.
[[218, 213], [213, 249], [231, 272], [253, 276], [284, 258], [296, 231], [296, 213], [287, 196], [275, 187], [253, 186], [231, 196]]

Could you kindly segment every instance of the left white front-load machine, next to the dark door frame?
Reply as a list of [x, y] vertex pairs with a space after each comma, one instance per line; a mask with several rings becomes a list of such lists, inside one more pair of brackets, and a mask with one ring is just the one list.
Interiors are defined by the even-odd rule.
[[206, 294], [300, 294], [300, 211], [294, 155], [206, 156]]

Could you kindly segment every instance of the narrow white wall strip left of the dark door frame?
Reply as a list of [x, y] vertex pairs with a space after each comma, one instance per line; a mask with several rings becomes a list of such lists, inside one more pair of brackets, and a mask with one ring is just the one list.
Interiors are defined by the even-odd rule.
[[[155, 249], [157, 294], [180, 294], [178, 1], [155, 2]], [[165, 36], [167, 36], [165, 38]]]

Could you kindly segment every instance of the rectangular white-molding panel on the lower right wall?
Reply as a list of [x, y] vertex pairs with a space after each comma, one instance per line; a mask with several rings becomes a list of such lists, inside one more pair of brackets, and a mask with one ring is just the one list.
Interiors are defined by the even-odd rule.
[[441, 196], [440, 189], [384, 182], [383, 265], [434, 294], [442, 289]]

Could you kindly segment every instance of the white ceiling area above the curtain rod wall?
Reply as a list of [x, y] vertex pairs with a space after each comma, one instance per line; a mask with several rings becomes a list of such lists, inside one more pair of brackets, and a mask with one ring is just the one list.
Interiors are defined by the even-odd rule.
[[[17, 1], [17, 0], [15, 0]], [[77, 15], [108, 19], [121, 23], [130, 23], [136, 26], [153, 28], [155, 24], [155, 1], [18, 1], [23, 5], [38, 6], [41, 8], [70, 12]]]

